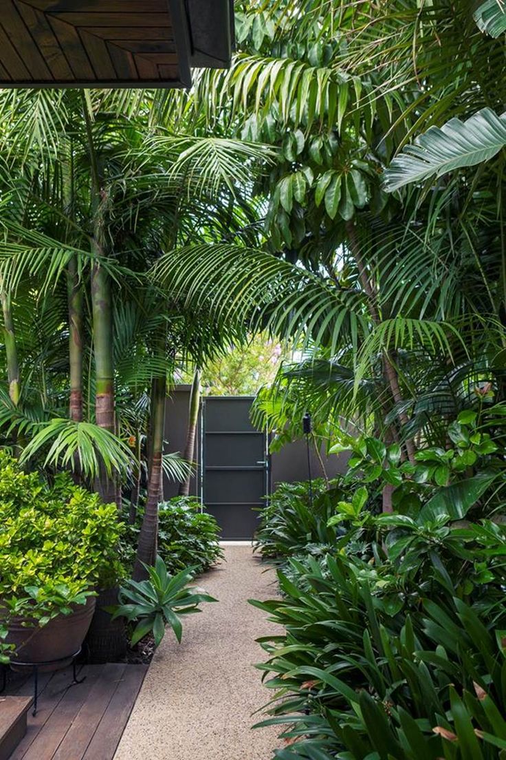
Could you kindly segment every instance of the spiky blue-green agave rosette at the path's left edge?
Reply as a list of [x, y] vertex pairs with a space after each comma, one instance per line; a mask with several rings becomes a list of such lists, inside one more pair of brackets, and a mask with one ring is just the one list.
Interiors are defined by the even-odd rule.
[[166, 625], [171, 626], [181, 644], [181, 615], [199, 613], [201, 602], [217, 600], [195, 586], [188, 586], [193, 580], [194, 568], [171, 575], [160, 556], [156, 558], [155, 567], [144, 567], [148, 572], [145, 581], [126, 581], [121, 586], [121, 604], [115, 607], [113, 619], [125, 617], [130, 623], [137, 622], [131, 636], [132, 645], [152, 633], [158, 647], [165, 635]]

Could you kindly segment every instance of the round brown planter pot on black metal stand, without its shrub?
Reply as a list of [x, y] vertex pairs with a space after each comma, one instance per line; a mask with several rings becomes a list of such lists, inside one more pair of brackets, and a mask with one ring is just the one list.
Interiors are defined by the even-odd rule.
[[95, 604], [95, 597], [88, 597], [86, 604], [74, 605], [70, 615], [58, 615], [42, 628], [34, 625], [33, 620], [14, 618], [9, 623], [7, 637], [8, 644], [16, 647], [11, 667], [17, 670], [16, 660], [49, 663], [39, 668], [47, 673], [69, 665], [90, 628]]

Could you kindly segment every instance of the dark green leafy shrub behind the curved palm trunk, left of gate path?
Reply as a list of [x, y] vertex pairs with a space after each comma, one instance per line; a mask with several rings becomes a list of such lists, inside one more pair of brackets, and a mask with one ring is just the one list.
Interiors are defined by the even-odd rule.
[[[134, 562], [142, 516], [140, 510], [136, 523], [127, 527], [121, 542], [128, 565]], [[200, 501], [194, 496], [175, 496], [159, 505], [158, 539], [159, 555], [171, 573], [193, 567], [200, 574], [223, 556], [218, 523], [212, 515], [201, 512]]]

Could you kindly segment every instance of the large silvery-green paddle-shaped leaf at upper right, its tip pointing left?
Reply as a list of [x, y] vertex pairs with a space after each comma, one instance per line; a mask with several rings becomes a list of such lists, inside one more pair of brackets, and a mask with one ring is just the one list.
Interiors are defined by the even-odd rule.
[[465, 122], [450, 119], [441, 128], [430, 127], [394, 158], [385, 172], [385, 190], [393, 192], [411, 182], [476, 166], [493, 158], [505, 145], [506, 113], [497, 116], [484, 108]]

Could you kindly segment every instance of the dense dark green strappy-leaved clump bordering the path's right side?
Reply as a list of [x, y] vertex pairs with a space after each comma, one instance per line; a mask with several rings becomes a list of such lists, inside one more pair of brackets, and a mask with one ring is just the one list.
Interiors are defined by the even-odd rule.
[[284, 597], [253, 602], [286, 629], [262, 640], [276, 757], [501, 758], [506, 529], [370, 521], [372, 559], [291, 559]]

